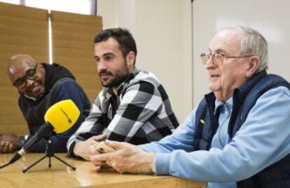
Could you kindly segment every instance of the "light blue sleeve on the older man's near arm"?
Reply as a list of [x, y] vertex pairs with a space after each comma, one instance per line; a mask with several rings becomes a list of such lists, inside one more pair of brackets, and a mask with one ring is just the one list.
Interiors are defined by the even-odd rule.
[[[182, 147], [172, 147], [173, 152], [156, 153], [156, 173], [205, 182], [247, 179], [289, 154], [289, 117], [289, 90], [285, 87], [268, 90], [257, 100], [247, 120], [223, 149], [188, 152], [180, 150]], [[186, 145], [183, 140], [174, 141]], [[149, 145], [145, 149], [151, 151]]]

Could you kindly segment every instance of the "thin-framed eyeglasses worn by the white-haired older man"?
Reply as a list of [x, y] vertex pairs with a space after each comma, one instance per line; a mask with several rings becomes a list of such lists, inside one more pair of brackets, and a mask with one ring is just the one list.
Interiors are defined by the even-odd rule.
[[202, 64], [206, 65], [209, 61], [209, 58], [212, 57], [212, 61], [214, 62], [214, 65], [220, 66], [223, 65], [224, 59], [230, 59], [230, 58], [249, 58], [253, 55], [240, 55], [240, 56], [226, 56], [219, 53], [201, 53], [200, 58], [202, 58]]

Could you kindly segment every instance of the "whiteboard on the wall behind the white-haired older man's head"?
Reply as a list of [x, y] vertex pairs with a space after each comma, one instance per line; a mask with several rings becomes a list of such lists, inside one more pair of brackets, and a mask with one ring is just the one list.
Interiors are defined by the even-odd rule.
[[194, 105], [209, 92], [200, 53], [207, 52], [212, 36], [223, 27], [243, 25], [261, 32], [268, 41], [268, 72], [290, 81], [290, 1], [195, 0], [192, 6]]

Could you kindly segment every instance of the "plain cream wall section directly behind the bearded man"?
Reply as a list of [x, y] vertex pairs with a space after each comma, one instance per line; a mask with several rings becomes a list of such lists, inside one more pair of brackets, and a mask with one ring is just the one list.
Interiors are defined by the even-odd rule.
[[104, 28], [130, 29], [137, 42], [137, 68], [158, 76], [179, 121], [192, 109], [191, 2], [98, 0]]

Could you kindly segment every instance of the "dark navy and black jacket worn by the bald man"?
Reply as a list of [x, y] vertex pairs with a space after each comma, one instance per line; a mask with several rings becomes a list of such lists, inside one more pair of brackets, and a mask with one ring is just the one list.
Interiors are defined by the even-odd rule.
[[[57, 65], [56, 63], [53, 65], [43, 63], [42, 65], [46, 70], [46, 89], [44, 95], [38, 100], [31, 100], [20, 93], [18, 104], [27, 121], [30, 135], [34, 135], [39, 129], [39, 126], [45, 123], [44, 114], [46, 114], [50, 106], [61, 100], [73, 100], [78, 109], [80, 109], [81, 116], [74, 126], [65, 133], [60, 133], [51, 137], [55, 152], [66, 152], [67, 140], [77, 130], [90, 112], [90, 101], [67, 68]], [[41, 140], [31, 152], [45, 151], [46, 141]]]

